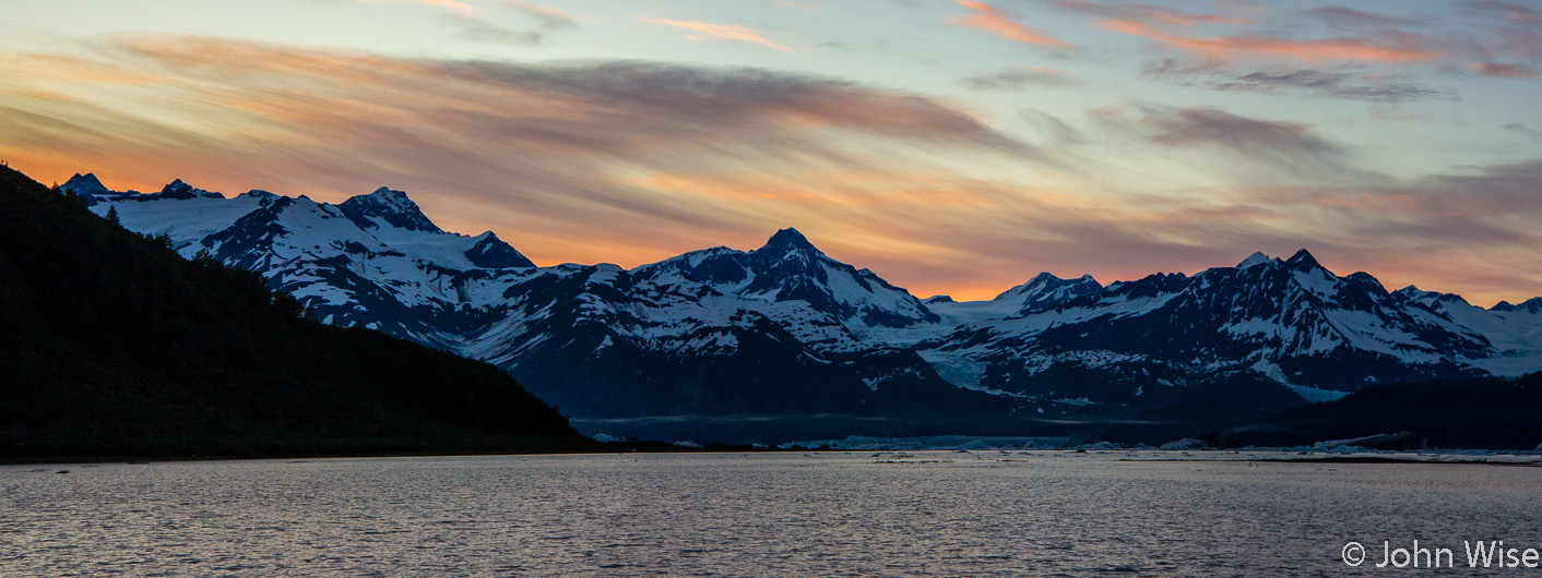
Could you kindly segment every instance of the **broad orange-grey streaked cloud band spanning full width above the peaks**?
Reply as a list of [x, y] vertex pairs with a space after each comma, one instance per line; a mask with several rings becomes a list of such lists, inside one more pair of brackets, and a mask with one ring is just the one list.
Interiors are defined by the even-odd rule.
[[389, 183], [441, 227], [497, 230], [540, 264], [638, 265], [799, 227], [922, 294], [1303, 245], [1474, 301], [1542, 287], [1542, 162], [1371, 179], [1314, 126], [1224, 109], [1126, 105], [1090, 123], [1025, 111], [1055, 145], [1039, 148], [944, 100], [766, 69], [187, 37], [72, 54], [0, 52], [0, 157], [39, 179], [182, 177], [330, 202]]

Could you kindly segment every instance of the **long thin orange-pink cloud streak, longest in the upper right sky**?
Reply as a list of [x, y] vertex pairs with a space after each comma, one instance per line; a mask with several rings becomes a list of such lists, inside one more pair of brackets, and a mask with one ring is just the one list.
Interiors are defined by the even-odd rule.
[[1362, 60], [1406, 63], [1431, 60], [1436, 57], [1431, 51], [1375, 46], [1355, 39], [1284, 40], [1261, 35], [1200, 37], [1163, 32], [1147, 23], [1135, 20], [1099, 20], [1098, 26], [1115, 32], [1152, 39], [1169, 46], [1195, 51], [1214, 59], [1227, 59], [1235, 55], [1277, 55], [1306, 62]]

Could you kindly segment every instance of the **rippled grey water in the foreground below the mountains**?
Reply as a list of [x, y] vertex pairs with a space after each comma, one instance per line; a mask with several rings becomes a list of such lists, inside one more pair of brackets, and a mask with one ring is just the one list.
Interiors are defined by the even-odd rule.
[[[1542, 547], [1536, 467], [1127, 458], [6, 465], [0, 575], [1474, 575], [1463, 539]], [[1460, 567], [1371, 566], [1383, 539], [1416, 538], [1456, 549]], [[1360, 569], [1340, 561], [1351, 539], [1374, 555]]]

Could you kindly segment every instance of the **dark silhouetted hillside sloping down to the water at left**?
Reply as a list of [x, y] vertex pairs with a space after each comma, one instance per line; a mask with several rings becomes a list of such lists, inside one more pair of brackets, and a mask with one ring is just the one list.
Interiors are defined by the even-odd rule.
[[501, 370], [305, 319], [0, 168], [0, 459], [586, 447]]

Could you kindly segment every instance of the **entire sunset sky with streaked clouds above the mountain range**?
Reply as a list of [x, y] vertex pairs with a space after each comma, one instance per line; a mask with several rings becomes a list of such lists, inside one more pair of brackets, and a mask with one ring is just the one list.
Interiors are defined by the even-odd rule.
[[796, 227], [917, 296], [1308, 248], [1542, 294], [1542, 3], [17, 0], [0, 159], [341, 202], [540, 265]]

